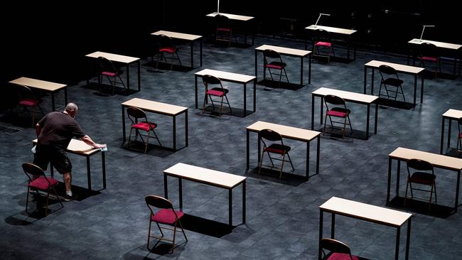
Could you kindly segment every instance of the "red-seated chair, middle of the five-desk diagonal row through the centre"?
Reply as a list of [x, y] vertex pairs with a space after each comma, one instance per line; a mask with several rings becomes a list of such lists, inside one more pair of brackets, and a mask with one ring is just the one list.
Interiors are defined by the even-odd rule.
[[[333, 123], [343, 124], [342, 139], [345, 136], [347, 125], [350, 126], [350, 131], [353, 134], [353, 127], [351, 126], [350, 121], [350, 109], [346, 107], [345, 100], [333, 94], [328, 94], [326, 97], [324, 97], [324, 103], [326, 104], [326, 117], [324, 118], [323, 134], [326, 134], [327, 118], [329, 118], [329, 121], [331, 121], [332, 130], [334, 129]], [[332, 117], [343, 119], [343, 121], [333, 121]]]

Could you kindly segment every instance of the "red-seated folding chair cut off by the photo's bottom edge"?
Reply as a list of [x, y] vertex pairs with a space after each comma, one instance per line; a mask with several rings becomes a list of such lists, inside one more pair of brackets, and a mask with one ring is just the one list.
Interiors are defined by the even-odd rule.
[[[329, 251], [326, 254], [326, 251]], [[359, 260], [358, 256], [351, 254], [347, 244], [335, 239], [323, 238], [319, 242], [319, 251], [322, 260]]]

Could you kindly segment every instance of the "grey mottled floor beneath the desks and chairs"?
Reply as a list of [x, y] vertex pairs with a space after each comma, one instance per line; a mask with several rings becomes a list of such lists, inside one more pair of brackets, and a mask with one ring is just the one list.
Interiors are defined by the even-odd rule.
[[[242, 39], [241, 39], [242, 40]], [[251, 134], [250, 168], [246, 169], [246, 131], [254, 121], [308, 129], [311, 125], [311, 92], [318, 87], [362, 92], [364, 64], [369, 60], [406, 63], [406, 57], [379, 51], [358, 49], [351, 63], [313, 60], [311, 85], [299, 88], [257, 85], [257, 111], [247, 117], [224, 114], [222, 117], [202, 114], [195, 109], [194, 73], [205, 68], [254, 75], [254, 48], [261, 44], [303, 48], [297, 40], [257, 37], [254, 46], [222, 47], [204, 43], [203, 66], [198, 67], [195, 53], [194, 70], [154, 69], [149, 60], [141, 60], [141, 92], [104, 96], [95, 85], [68, 87], [68, 100], [80, 107], [77, 121], [92, 139], [107, 143], [107, 188], [102, 189], [100, 156], [91, 158], [92, 188], [87, 190], [85, 158], [70, 155], [73, 170], [72, 185], [79, 199], [65, 202], [65, 207], [46, 217], [28, 216], [26, 176], [21, 163], [33, 160], [31, 140], [35, 131], [27, 127], [28, 119], [9, 111], [1, 114], [0, 132], [0, 258], [1, 259], [316, 259], [318, 252], [319, 205], [332, 196], [387, 207], [388, 154], [402, 146], [439, 153], [441, 114], [447, 109], [462, 109], [461, 78], [444, 75], [425, 80], [424, 102], [416, 107], [380, 106], [377, 135], [368, 140], [347, 136], [345, 140], [321, 137], [320, 173], [309, 180], [305, 174], [306, 145], [287, 140], [292, 146], [291, 158], [296, 168], [283, 180], [268, 172], [257, 175], [257, 135]], [[195, 51], [198, 49], [196, 48]], [[129, 55], [129, 53], [127, 53]], [[189, 65], [188, 45], [182, 45], [183, 65]], [[343, 46], [335, 47], [335, 55], [345, 57]], [[299, 60], [284, 57], [292, 83], [299, 82]], [[259, 55], [259, 80], [262, 80], [262, 55]], [[307, 62], [305, 63], [305, 66]], [[131, 88], [136, 88], [136, 67], [131, 66]], [[451, 64], [443, 72], [451, 74]], [[370, 70], [367, 76], [370, 79]], [[123, 77], [127, 73], [124, 73]], [[378, 73], [376, 74], [378, 75]], [[25, 75], [27, 76], [27, 75]], [[412, 100], [413, 77], [402, 75], [404, 94]], [[93, 82], [96, 78], [92, 79]], [[199, 82], [199, 106], [203, 86]], [[367, 83], [368, 87], [370, 82]], [[227, 83], [228, 98], [235, 110], [242, 109], [242, 86]], [[380, 81], [375, 77], [375, 94]], [[286, 85], [284, 85], [286, 86]], [[252, 87], [247, 91], [247, 109], [252, 108]], [[418, 91], [420, 94], [420, 91]], [[188, 107], [189, 145], [178, 151], [150, 146], [148, 153], [129, 151], [122, 143], [120, 103], [133, 97]], [[419, 96], [418, 96], [419, 97]], [[42, 98], [42, 107], [50, 112], [50, 94]], [[63, 93], [56, 97], [58, 109], [63, 109]], [[316, 99], [316, 102], [319, 102]], [[315, 128], [319, 129], [319, 106], [315, 106]], [[365, 131], [365, 107], [348, 104], [355, 131]], [[172, 146], [170, 117], [149, 114], [159, 124], [157, 131], [164, 146]], [[372, 120], [371, 120], [372, 121]], [[127, 123], [128, 124], [128, 123]], [[183, 146], [184, 117], [177, 120], [177, 146]], [[446, 126], [447, 127], [447, 126]], [[453, 124], [455, 146], [456, 127]], [[128, 134], [128, 132], [127, 132]], [[316, 146], [311, 146], [310, 168]], [[183, 210], [188, 242], [165, 254], [163, 246], [146, 249], [149, 210], [144, 196], [163, 195], [162, 171], [176, 163], [189, 163], [227, 173], [247, 176], [247, 222], [242, 224], [242, 192], [233, 193], [233, 227], [227, 223], [227, 191], [208, 185], [183, 181]], [[394, 170], [396, 164], [394, 166]], [[286, 168], [289, 169], [289, 168]], [[402, 166], [402, 173], [405, 168]], [[56, 173], [56, 172], [55, 172]], [[462, 255], [462, 221], [460, 211], [442, 214], [454, 205], [457, 175], [448, 170], [436, 170], [438, 202], [426, 212], [419, 207], [388, 205], [395, 210], [412, 212], [409, 259], [460, 259]], [[55, 176], [60, 180], [60, 175]], [[394, 184], [394, 183], [392, 183]], [[62, 186], [62, 183], [60, 183]], [[178, 182], [168, 179], [169, 195], [178, 207]], [[392, 186], [393, 187], [393, 186]], [[401, 195], [405, 178], [401, 178]], [[57, 205], [53, 205], [57, 206]], [[53, 207], [52, 206], [52, 207]], [[31, 205], [31, 210], [35, 205]], [[324, 236], [330, 232], [330, 215], [324, 217]], [[401, 232], [400, 259], [404, 259], [404, 226]], [[336, 218], [336, 238], [350, 245], [354, 254], [367, 259], [393, 259], [396, 231], [392, 227], [363, 222], [348, 217]], [[183, 242], [178, 236], [178, 242]]]

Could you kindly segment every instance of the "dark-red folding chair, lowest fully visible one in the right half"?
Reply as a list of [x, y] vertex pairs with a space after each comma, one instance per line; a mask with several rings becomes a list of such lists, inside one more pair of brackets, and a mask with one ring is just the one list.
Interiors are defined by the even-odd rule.
[[[431, 207], [431, 198], [435, 194], [435, 204], [438, 202], [436, 197], [436, 175], [434, 173], [433, 165], [428, 161], [419, 159], [410, 159], [407, 161], [407, 184], [406, 193], [404, 195], [404, 206], [406, 206], [407, 190], [411, 191], [411, 199], [426, 200], [423, 197], [414, 197], [414, 190], [419, 190], [425, 193], [430, 193], [429, 197], [429, 210]], [[412, 187], [412, 184], [419, 185], [419, 187]], [[425, 189], [429, 187], [430, 190]]]

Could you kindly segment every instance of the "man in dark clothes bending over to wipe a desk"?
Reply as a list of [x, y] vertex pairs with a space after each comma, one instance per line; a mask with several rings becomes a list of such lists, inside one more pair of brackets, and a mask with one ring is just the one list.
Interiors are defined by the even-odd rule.
[[45, 115], [36, 124], [36, 134], [38, 136], [36, 153], [34, 153], [33, 163], [46, 170], [48, 162], [63, 175], [66, 188], [64, 200], [70, 201], [75, 197], [72, 195], [72, 164], [65, 152], [72, 137], [80, 138], [89, 146], [104, 148], [106, 144], [95, 143], [90, 136], [87, 136], [80, 128], [79, 123], [74, 117], [77, 114], [77, 105], [69, 103], [63, 112], [51, 112]]

